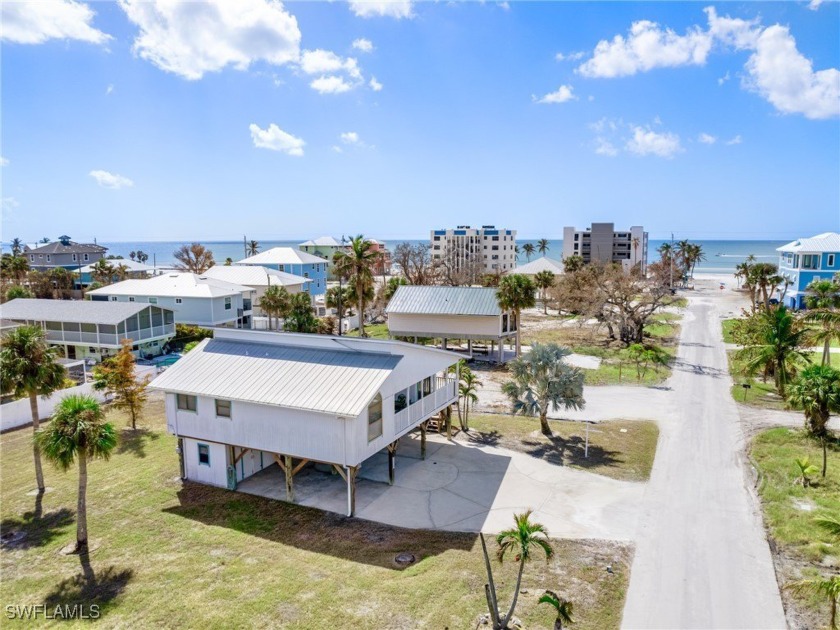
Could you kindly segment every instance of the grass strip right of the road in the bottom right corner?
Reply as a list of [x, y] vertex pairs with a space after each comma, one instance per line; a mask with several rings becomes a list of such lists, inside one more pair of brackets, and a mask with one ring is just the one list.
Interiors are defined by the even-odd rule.
[[[794, 459], [807, 456], [817, 466], [822, 465], [822, 448], [804, 431], [788, 428], [771, 429], [753, 440], [751, 456], [761, 473], [759, 487], [764, 519], [775, 542], [777, 553], [786, 562], [781, 566], [781, 583], [840, 570], [838, 545], [814, 523], [817, 514], [840, 515], [840, 441], [834, 440], [828, 453], [828, 473], [819, 473], [811, 487], [794, 484], [797, 467]], [[819, 566], [821, 565], [821, 566]], [[786, 604], [798, 612], [810, 614], [799, 627], [825, 627], [828, 606], [808, 596], [794, 595], [783, 588]]]

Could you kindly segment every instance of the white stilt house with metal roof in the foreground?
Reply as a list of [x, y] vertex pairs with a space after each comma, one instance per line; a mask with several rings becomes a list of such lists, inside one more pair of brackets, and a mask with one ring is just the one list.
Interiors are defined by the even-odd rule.
[[387, 448], [393, 478], [397, 440], [425, 436], [456, 402], [457, 360], [395, 341], [218, 330], [151, 387], [166, 394], [183, 478], [235, 489], [275, 467], [293, 501], [294, 476], [318, 464], [344, 478], [352, 515], [365, 460]]

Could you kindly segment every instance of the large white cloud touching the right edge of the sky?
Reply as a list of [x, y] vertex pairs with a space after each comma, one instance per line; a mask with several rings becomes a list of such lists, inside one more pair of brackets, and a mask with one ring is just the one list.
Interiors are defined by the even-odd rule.
[[745, 85], [766, 98], [780, 112], [810, 119], [840, 115], [840, 70], [814, 72], [813, 64], [796, 48], [785, 26], [769, 26], [761, 33], [746, 64]]

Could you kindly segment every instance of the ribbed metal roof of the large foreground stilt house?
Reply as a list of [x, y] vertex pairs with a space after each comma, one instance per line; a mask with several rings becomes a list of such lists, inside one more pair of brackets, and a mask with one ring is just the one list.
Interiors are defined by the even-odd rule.
[[208, 339], [154, 389], [356, 417], [402, 357], [276, 343]]

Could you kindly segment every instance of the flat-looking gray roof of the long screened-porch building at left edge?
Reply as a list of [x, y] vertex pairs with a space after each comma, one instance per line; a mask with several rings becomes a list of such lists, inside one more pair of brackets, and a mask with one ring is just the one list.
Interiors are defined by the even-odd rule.
[[0, 306], [0, 317], [17, 321], [74, 322], [115, 326], [149, 306], [153, 305], [144, 302], [16, 298]]

